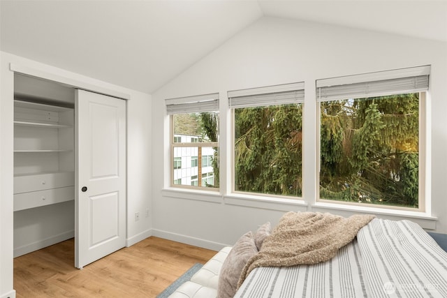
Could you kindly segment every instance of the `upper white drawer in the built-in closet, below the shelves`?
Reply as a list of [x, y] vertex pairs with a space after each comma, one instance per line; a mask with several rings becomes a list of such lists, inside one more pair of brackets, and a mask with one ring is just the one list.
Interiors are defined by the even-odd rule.
[[29, 193], [50, 188], [73, 186], [74, 172], [21, 175], [14, 177], [14, 193]]

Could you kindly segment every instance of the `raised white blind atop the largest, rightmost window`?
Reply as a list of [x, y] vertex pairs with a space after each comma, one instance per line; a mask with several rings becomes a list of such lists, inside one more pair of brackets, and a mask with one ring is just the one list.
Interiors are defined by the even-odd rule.
[[430, 66], [349, 75], [316, 81], [318, 101], [366, 98], [428, 90]]

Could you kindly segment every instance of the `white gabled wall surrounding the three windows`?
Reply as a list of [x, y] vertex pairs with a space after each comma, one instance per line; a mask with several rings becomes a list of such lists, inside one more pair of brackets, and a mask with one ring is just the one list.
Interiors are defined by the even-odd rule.
[[[233, 244], [240, 234], [265, 221], [273, 224], [284, 211], [331, 211], [343, 216], [349, 210], [316, 207], [316, 97], [315, 80], [379, 70], [432, 65], [430, 76], [432, 206], [429, 214], [410, 216], [425, 228], [447, 232], [447, 43], [404, 36], [263, 17], [207, 57], [152, 94], [153, 99], [153, 234], [217, 249]], [[290, 82], [305, 82], [303, 161], [307, 203], [256, 200], [231, 195], [197, 194], [168, 189], [169, 126], [164, 99], [220, 92], [221, 109], [228, 108], [226, 92]], [[430, 116], [431, 113], [431, 116]], [[230, 121], [221, 116], [221, 187], [230, 184]], [[163, 124], [163, 129], [160, 129]], [[156, 140], [156, 141], [155, 141]], [[429, 148], [430, 150], [430, 148]], [[161, 158], [164, 156], [164, 158]], [[430, 175], [429, 175], [430, 176]], [[228, 181], [228, 183], [227, 183]], [[432, 216], [430, 216], [430, 211]], [[369, 210], [375, 213], [374, 209]], [[378, 213], [379, 214], [379, 213]], [[402, 219], [392, 212], [383, 218]], [[437, 217], [437, 220], [435, 220]]]

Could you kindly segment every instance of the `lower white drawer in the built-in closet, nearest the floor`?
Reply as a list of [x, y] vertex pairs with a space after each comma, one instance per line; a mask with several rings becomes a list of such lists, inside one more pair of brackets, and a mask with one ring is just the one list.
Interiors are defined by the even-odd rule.
[[61, 187], [45, 191], [31, 191], [14, 195], [14, 211], [75, 200], [75, 187]]

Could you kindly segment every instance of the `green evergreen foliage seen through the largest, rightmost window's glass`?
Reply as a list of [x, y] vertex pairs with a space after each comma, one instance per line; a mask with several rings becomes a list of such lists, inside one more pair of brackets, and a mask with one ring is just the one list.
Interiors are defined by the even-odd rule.
[[418, 94], [321, 103], [320, 198], [418, 207]]

